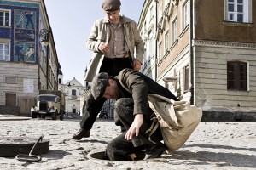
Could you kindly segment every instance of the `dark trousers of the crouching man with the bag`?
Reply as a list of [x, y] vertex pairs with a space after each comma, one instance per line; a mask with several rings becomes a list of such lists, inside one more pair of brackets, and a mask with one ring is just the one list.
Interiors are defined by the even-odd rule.
[[[131, 127], [131, 123], [134, 120], [133, 116], [134, 102], [130, 98], [118, 99], [115, 103], [115, 111], [119, 116], [120, 122], [123, 123], [126, 130]], [[115, 161], [128, 161], [131, 160], [129, 156], [132, 153], [137, 153], [146, 149], [149, 145], [154, 144], [148, 140], [148, 133], [146, 131], [151, 126], [150, 118], [154, 116], [153, 111], [148, 106], [147, 113], [143, 115], [143, 125], [140, 127], [139, 135], [134, 136], [131, 140], [125, 139], [125, 133], [120, 134], [117, 138], [111, 140], [108, 143], [106, 149], [106, 156], [108, 159]], [[150, 137], [155, 143], [162, 140], [160, 128]]]

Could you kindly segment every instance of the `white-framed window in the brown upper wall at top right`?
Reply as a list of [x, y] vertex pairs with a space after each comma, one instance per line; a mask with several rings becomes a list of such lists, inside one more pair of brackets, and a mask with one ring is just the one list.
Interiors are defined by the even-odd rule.
[[251, 0], [227, 0], [227, 20], [232, 22], [249, 22]]

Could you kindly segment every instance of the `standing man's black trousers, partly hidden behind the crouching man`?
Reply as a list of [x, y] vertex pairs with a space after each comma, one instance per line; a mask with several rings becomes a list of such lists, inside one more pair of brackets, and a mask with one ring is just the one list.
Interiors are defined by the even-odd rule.
[[[110, 76], [117, 76], [119, 72], [125, 68], [133, 68], [131, 57], [129, 58], [104, 58], [100, 72], [107, 72]], [[107, 99], [102, 98], [95, 100], [90, 93], [84, 100], [83, 117], [80, 122], [80, 127], [90, 130], [93, 123], [96, 121], [98, 113], [102, 110], [102, 106]]]

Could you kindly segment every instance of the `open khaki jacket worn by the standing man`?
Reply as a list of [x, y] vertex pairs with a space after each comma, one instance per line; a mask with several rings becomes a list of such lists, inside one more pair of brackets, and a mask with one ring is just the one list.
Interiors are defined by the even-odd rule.
[[[121, 15], [124, 21], [125, 33], [125, 51], [130, 51], [131, 58], [143, 63], [144, 44], [137, 30], [137, 24], [124, 15]], [[85, 80], [92, 81], [92, 78], [99, 73], [104, 54], [98, 49], [101, 43], [108, 43], [111, 37], [108, 18], [97, 20], [92, 26], [90, 36], [86, 42], [86, 47], [93, 51], [92, 59], [88, 65]]]

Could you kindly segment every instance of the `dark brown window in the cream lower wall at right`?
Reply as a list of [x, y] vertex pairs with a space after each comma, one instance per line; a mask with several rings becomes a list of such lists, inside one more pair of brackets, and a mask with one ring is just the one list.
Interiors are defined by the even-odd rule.
[[247, 63], [230, 61], [227, 65], [227, 88], [247, 90]]

